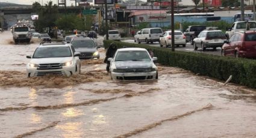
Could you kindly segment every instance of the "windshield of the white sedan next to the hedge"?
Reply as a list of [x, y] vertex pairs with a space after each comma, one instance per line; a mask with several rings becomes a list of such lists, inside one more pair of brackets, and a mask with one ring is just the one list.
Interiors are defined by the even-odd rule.
[[150, 61], [148, 52], [139, 50], [119, 51], [115, 61]]

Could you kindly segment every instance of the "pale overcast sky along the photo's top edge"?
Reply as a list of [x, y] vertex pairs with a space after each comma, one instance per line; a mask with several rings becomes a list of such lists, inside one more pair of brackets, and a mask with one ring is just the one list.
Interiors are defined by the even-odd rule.
[[[40, 4], [43, 3], [46, 4], [47, 2], [49, 2], [50, 0], [1, 0], [1, 2], [11, 2], [14, 4], [26, 4], [26, 5], [32, 5], [34, 2], [40, 2]], [[146, 1], [146, 0], [142, 0], [142, 1]], [[181, 0], [182, 2], [180, 2], [180, 5], [193, 5], [192, 0]], [[52, 2], [54, 4], [57, 4], [58, 0], [52, 0]], [[67, 5], [71, 5], [73, 3], [73, 5], [75, 5], [74, 1], [70, 1], [67, 0]]]

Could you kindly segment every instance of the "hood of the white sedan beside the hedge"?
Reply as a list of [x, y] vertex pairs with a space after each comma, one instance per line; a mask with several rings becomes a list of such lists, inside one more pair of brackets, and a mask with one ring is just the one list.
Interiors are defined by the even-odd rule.
[[151, 61], [116, 61], [114, 65], [117, 69], [126, 69], [126, 68], [152, 68]]

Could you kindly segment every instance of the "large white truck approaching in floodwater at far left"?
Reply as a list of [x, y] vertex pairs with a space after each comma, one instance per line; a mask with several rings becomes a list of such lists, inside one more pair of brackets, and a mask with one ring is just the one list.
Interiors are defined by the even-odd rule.
[[31, 36], [28, 32], [28, 26], [13, 26], [11, 32], [13, 33], [14, 43], [27, 42], [30, 43]]

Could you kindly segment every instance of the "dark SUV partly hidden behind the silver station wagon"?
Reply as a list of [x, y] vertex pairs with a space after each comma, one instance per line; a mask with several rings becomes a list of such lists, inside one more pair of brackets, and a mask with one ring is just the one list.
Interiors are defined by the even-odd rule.
[[187, 42], [190, 41], [190, 43], [193, 45], [193, 40], [194, 38], [198, 37], [198, 34], [205, 30], [206, 26], [205, 25], [192, 25], [189, 26], [186, 31], [184, 32], [184, 35], [186, 36]]

